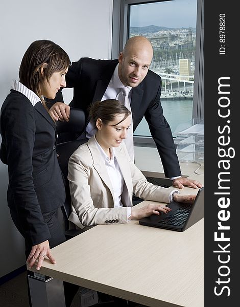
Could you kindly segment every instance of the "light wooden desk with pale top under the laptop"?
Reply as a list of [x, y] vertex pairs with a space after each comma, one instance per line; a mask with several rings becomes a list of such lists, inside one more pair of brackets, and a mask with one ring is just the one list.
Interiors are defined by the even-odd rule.
[[56, 265], [32, 271], [147, 306], [204, 306], [204, 219], [184, 232], [98, 225], [52, 252]]

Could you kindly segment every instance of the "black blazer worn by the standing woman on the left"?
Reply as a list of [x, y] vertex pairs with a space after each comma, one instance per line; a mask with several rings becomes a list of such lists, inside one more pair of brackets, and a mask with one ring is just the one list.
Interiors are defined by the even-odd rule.
[[65, 188], [56, 153], [56, 124], [41, 102], [14, 90], [1, 108], [0, 158], [8, 164], [8, 206], [32, 245], [51, 237], [42, 212], [63, 205]]

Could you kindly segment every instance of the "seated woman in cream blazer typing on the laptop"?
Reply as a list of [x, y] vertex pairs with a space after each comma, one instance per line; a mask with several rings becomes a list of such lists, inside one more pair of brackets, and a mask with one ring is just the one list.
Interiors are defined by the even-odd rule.
[[71, 155], [68, 180], [72, 200], [69, 221], [77, 227], [124, 224], [151, 214], [167, 213], [164, 205], [132, 207], [132, 193], [139, 198], [170, 203], [193, 203], [196, 195], [149, 183], [130, 159], [123, 142], [131, 112], [118, 100], [97, 101], [90, 106], [97, 132]]

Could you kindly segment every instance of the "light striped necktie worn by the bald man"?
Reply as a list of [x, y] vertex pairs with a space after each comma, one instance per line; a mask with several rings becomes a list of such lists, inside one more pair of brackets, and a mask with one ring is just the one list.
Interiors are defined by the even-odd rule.
[[122, 93], [123, 93], [123, 103], [129, 109], [129, 111], [131, 112], [131, 126], [128, 129], [127, 138], [124, 141], [125, 141], [129, 156], [132, 159], [132, 161], [134, 161], [132, 111], [131, 111], [130, 101], [129, 101], [129, 98], [128, 98], [128, 95], [129, 95], [129, 92], [130, 92], [131, 89], [129, 89], [129, 87], [125, 86], [125, 87], [121, 87], [121, 90], [122, 90]]

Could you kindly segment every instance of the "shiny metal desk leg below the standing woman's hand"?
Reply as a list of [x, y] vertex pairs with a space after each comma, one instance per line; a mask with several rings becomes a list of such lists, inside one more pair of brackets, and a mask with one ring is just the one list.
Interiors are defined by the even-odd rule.
[[63, 282], [59, 279], [34, 273], [28, 274], [32, 307], [65, 307]]

